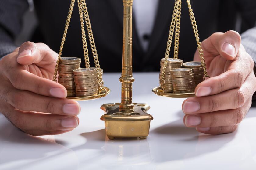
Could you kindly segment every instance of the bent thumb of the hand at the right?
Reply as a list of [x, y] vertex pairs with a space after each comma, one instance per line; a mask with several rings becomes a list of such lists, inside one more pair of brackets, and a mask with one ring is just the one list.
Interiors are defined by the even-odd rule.
[[226, 60], [233, 60], [236, 57], [240, 45], [241, 36], [236, 31], [214, 33], [202, 43], [205, 50], [215, 53], [216, 56], [220, 54]]

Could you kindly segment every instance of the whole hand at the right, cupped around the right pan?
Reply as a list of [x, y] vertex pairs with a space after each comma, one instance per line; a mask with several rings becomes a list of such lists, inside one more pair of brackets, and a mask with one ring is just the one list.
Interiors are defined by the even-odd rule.
[[[251, 107], [256, 90], [254, 61], [235, 31], [214, 33], [202, 42], [208, 75], [197, 85], [196, 97], [182, 104], [184, 124], [205, 134], [235, 131]], [[194, 61], [200, 61], [198, 52]]]

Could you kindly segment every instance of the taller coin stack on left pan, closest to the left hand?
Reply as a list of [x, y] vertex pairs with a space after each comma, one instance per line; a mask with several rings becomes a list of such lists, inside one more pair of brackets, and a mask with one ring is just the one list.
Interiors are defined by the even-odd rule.
[[67, 89], [67, 96], [75, 96], [73, 70], [80, 68], [81, 59], [77, 57], [62, 57], [59, 62], [58, 83]]

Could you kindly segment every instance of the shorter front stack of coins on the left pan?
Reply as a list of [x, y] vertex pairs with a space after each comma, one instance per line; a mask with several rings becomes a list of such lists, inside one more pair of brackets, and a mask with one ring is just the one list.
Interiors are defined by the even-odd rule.
[[[103, 70], [102, 70], [103, 71]], [[73, 71], [76, 96], [92, 96], [98, 92], [96, 68], [81, 68]]]

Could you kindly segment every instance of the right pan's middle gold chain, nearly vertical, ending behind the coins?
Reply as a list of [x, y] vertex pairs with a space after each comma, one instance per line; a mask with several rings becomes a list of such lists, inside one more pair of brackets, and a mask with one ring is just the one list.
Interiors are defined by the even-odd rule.
[[175, 25], [175, 46], [173, 58], [178, 58], [179, 55], [179, 41], [180, 41], [180, 14], [181, 14], [181, 0], [178, 4], [177, 15], [176, 15], [176, 25]]

